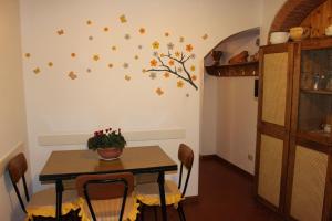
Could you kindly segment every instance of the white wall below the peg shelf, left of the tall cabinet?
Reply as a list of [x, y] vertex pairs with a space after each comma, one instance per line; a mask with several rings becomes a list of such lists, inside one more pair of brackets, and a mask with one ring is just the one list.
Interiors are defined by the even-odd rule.
[[217, 155], [250, 173], [255, 171], [258, 107], [253, 85], [255, 77], [219, 77], [216, 116]]

